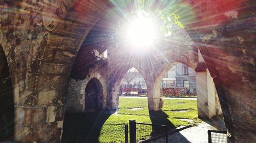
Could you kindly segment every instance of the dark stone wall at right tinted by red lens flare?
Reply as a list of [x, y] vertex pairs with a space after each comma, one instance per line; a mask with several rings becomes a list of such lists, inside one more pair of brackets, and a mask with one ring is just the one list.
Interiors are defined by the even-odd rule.
[[229, 142], [255, 142], [255, 2], [191, 1], [185, 29], [213, 77]]

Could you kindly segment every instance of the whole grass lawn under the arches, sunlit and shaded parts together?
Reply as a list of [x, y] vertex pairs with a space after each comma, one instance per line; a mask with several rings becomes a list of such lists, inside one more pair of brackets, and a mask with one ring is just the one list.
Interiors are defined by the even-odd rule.
[[[167, 125], [169, 128], [195, 125], [200, 122], [197, 118], [196, 100], [163, 99], [163, 101], [164, 106], [161, 111], [149, 112], [146, 98], [120, 97], [119, 109], [112, 115], [103, 112], [66, 115], [62, 142], [123, 142], [124, 126], [105, 124], [129, 123], [129, 120]], [[137, 132], [143, 130], [138, 129]], [[144, 134], [144, 137], [149, 136], [150, 133]]]

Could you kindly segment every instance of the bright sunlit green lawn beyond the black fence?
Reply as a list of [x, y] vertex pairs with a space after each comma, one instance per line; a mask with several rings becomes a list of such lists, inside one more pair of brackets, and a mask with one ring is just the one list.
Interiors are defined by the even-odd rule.
[[[164, 115], [156, 114], [153, 117], [159, 117], [169, 120], [175, 127], [182, 125], [191, 125], [193, 123], [180, 120], [191, 119], [195, 122], [197, 118], [197, 101], [196, 100], [180, 100], [180, 99], [163, 99], [164, 105], [162, 112]], [[138, 110], [131, 110], [131, 108], [142, 108]], [[175, 110], [188, 109], [185, 112], [177, 112]], [[130, 119], [136, 122], [152, 123], [150, 112], [148, 112], [147, 99], [145, 98], [119, 98], [119, 109], [117, 115], [111, 115], [106, 123], [111, 122], [129, 122]], [[162, 123], [164, 124], [164, 123]]]

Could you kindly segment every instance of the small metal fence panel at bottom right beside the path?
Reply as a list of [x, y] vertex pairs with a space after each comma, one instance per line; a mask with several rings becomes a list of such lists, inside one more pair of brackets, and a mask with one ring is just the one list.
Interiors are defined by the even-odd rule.
[[227, 143], [227, 131], [208, 130], [209, 143]]

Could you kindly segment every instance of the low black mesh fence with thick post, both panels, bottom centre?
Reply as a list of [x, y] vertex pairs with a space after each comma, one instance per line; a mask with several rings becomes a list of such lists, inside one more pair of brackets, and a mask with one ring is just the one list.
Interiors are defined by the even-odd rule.
[[[105, 123], [102, 125], [98, 142], [101, 143], [136, 143], [136, 142], [168, 142], [168, 127], [164, 125], [139, 123], [130, 120], [126, 123]], [[130, 137], [129, 137], [130, 136]]]

